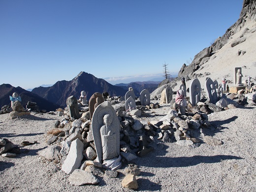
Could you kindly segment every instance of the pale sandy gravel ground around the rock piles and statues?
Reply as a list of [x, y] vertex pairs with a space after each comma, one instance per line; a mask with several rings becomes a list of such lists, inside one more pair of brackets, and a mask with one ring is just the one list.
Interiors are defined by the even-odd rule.
[[[142, 121], [161, 119], [170, 109], [147, 111]], [[132, 191], [122, 188], [124, 169], [118, 178], [98, 177], [98, 185], [72, 186], [68, 175], [58, 164], [37, 155], [47, 147], [45, 134], [54, 127], [57, 115], [32, 114], [9, 120], [8, 114], [0, 115], [0, 137], [16, 145], [22, 141], [37, 144], [21, 146], [21, 154], [14, 159], [0, 156], [1, 192], [95, 192]], [[136, 191], [164, 192], [249, 192], [256, 189], [256, 108], [230, 109], [211, 114], [213, 128], [204, 128], [203, 134], [223, 141], [223, 145], [210, 146], [201, 143], [197, 148], [160, 143], [156, 139], [155, 151], [134, 163], [139, 165]], [[201, 134], [201, 135], [203, 135]], [[124, 167], [123, 167], [124, 168]]]

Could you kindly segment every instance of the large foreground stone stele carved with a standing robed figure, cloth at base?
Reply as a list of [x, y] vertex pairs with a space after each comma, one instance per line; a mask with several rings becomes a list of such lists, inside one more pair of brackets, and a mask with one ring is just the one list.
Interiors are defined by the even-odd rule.
[[120, 121], [108, 101], [97, 106], [92, 118], [92, 131], [97, 153], [96, 161], [107, 169], [121, 167]]

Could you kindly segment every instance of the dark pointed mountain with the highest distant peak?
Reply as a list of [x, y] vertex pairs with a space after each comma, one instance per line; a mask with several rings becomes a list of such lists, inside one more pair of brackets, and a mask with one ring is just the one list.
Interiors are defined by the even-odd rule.
[[96, 93], [108, 92], [110, 96], [125, 96], [128, 90], [109, 84], [103, 79], [96, 78], [94, 75], [80, 72], [71, 81], [58, 81], [51, 87], [38, 87], [32, 90], [37, 94], [53, 103], [66, 106], [66, 99], [69, 96], [80, 97], [81, 91], [86, 92], [87, 99]]

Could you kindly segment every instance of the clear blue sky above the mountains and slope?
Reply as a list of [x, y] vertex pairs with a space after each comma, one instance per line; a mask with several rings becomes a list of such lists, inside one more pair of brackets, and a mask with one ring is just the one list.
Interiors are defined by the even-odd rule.
[[[239, 18], [243, 0], [0, 0], [0, 85], [85, 71], [109, 83], [171, 75]], [[147, 78], [146, 78], [147, 77]]]

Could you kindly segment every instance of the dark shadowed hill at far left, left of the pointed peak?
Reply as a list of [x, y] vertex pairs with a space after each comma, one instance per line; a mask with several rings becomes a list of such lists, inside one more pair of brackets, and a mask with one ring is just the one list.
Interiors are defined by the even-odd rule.
[[33, 94], [21, 87], [13, 87], [10, 84], [2, 84], [0, 85], [0, 107], [3, 105], [11, 105], [11, 101], [9, 96], [16, 92], [19, 96], [21, 96], [21, 104], [25, 107], [28, 101], [36, 102], [39, 106], [39, 109], [45, 109], [46, 111], [55, 111], [60, 106], [49, 102], [48, 100]]

